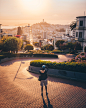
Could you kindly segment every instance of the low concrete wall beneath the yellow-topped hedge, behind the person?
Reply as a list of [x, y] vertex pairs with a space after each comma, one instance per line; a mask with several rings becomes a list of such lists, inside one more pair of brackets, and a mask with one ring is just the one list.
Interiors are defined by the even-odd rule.
[[[39, 74], [40, 69], [41, 67], [29, 66], [27, 71]], [[67, 70], [58, 70], [58, 69], [49, 69], [47, 75], [56, 78], [64, 78], [69, 80], [86, 82], [86, 73], [73, 72]]]

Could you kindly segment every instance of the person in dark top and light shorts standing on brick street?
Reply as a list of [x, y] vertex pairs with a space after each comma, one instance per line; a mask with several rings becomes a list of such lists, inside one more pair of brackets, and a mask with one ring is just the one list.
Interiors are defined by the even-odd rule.
[[48, 68], [45, 65], [42, 65], [42, 69], [39, 70], [40, 73], [40, 85], [41, 85], [41, 95], [43, 96], [43, 85], [45, 86], [46, 96], [48, 95], [47, 92], [47, 71]]

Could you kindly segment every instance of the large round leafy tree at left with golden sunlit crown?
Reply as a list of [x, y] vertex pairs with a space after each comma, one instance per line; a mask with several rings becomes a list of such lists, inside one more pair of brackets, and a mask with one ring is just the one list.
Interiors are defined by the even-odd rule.
[[18, 52], [21, 48], [22, 41], [16, 37], [9, 37], [4, 42], [4, 51]]

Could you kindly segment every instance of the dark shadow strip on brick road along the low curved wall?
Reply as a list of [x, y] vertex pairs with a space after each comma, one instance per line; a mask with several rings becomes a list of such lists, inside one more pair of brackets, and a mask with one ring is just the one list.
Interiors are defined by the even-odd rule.
[[[29, 72], [31, 75], [39, 78], [39, 74], [35, 74], [35, 73], [31, 73]], [[69, 85], [73, 85], [73, 86], [77, 86], [77, 87], [82, 87], [83, 89], [86, 89], [86, 83], [85, 82], [81, 82], [81, 81], [75, 81], [75, 80], [70, 80], [70, 79], [63, 79], [63, 78], [56, 78], [56, 77], [50, 77], [48, 76], [48, 81], [51, 82], [60, 82], [60, 83], [65, 83], [65, 84], [69, 84]]]

